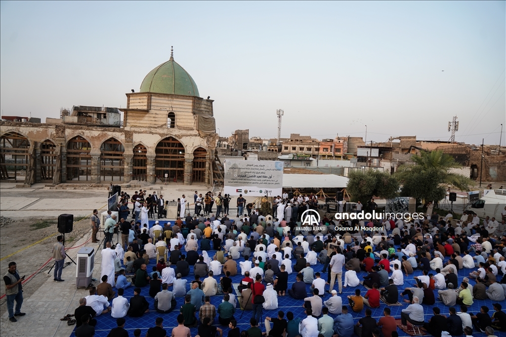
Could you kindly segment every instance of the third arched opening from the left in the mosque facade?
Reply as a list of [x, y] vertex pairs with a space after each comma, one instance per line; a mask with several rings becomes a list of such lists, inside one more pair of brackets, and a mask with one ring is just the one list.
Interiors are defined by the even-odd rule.
[[88, 140], [75, 136], [67, 143], [67, 180], [91, 180], [92, 147]]

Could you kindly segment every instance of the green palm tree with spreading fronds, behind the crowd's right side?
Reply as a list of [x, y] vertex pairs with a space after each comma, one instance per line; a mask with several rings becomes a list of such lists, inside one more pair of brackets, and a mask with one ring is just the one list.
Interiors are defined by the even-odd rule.
[[469, 177], [450, 172], [461, 165], [455, 159], [437, 151], [422, 151], [411, 157], [413, 163], [399, 166], [395, 176], [402, 183], [401, 196], [439, 201], [446, 196], [446, 187], [453, 186], [460, 190], [468, 190], [473, 184]]

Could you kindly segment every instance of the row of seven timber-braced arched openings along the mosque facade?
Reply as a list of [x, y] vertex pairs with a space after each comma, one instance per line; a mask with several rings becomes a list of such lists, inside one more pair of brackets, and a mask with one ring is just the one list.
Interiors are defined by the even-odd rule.
[[[89, 181], [92, 179], [90, 142], [78, 135], [66, 145], [66, 180]], [[147, 149], [138, 144], [133, 149], [133, 180], [147, 180]], [[16, 132], [2, 135], [0, 139], [0, 168], [3, 180], [23, 180], [26, 173], [30, 141]], [[40, 143], [40, 179], [53, 180], [58, 166], [57, 147], [51, 140]], [[130, 157], [130, 156], [129, 156]], [[192, 182], [205, 182], [207, 151], [201, 147], [193, 151]], [[124, 147], [116, 138], [108, 138], [100, 146], [100, 180], [124, 180]], [[184, 181], [185, 147], [174, 137], [166, 137], [155, 147], [154, 173], [160, 180]]]

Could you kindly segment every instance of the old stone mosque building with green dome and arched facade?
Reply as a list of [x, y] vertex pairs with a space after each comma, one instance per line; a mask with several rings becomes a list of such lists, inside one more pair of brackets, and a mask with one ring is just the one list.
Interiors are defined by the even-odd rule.
[[42, 124], [3, 116], [0, 136], [3, 181], [191, 185], [222, 177], [213, 100], [199, 97], [172, 51], [139, 92], [126, 93], [126, 109], [74, 106]]

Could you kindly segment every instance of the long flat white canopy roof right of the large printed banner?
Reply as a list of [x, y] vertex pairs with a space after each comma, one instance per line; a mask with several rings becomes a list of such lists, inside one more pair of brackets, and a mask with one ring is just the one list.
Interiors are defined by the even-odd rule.
[[344, 188], [348, 178], [335, 174], [283, 174], [283, 187]]

